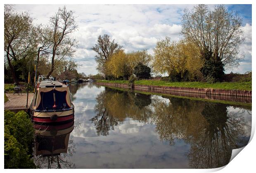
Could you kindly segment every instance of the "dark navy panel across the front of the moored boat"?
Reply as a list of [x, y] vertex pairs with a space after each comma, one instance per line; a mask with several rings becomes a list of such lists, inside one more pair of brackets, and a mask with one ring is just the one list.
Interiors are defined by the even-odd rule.
[[66, 102], [66, 94], [67, 91], [57, 91], [52, 90], [48, 92], [40, 92], [41, 101], [37, 110], [52, 110], [54, 106], [54, 94], [55, 94], [55, 106], [56, 110], [63, 109], [63, 108], [70, 108], [69, 105]]

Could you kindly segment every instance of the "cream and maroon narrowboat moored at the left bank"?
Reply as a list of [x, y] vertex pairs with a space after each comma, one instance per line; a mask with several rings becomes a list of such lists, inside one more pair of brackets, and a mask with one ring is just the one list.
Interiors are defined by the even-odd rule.
[[57, 124], [73, 121], [74, 105], [69, 86], [57, 81], [41, 81], [30, 106], [31, 119], [35, 123]]

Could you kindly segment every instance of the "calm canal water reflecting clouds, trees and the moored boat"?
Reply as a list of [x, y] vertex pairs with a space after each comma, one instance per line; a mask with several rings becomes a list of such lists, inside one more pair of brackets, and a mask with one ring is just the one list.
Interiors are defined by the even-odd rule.
[[248, 105], [93, 84], [70, 90], [75, 122], [38, 136], [41, 168], [216, 168], [251, 135]]

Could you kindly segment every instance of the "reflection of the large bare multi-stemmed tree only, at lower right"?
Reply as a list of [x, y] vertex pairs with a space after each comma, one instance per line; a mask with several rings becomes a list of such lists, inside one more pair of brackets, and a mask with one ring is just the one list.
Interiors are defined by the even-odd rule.
[[[188, 158], [192, 168], [218, 168], [230, 161], [232, 149], [247, 145], [244, 135], [244, 117], [228, 113], [227, 105], [206, 103], [201, 112], [206, 119], [199, 138], [191, 138]], [[240, 143], [239, 146], [238, 143]]]

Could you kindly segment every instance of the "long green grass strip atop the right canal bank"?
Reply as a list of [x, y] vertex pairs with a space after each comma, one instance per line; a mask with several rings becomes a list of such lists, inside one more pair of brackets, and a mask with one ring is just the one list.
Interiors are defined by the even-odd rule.
[[[128, 80], [98, 80], [102, 83], [116, 83], [116, 84], [128, 84]], [[151, 85], [151, 86], [174, 86], [174, 87], [186, 87], [186, 88], [212, 88], [212, 89], [227, 89], [227, 90], [246, 90], [251, 91], [251, 82], [168, 82], [160, 80], [137, 80], [135, 85]]]

